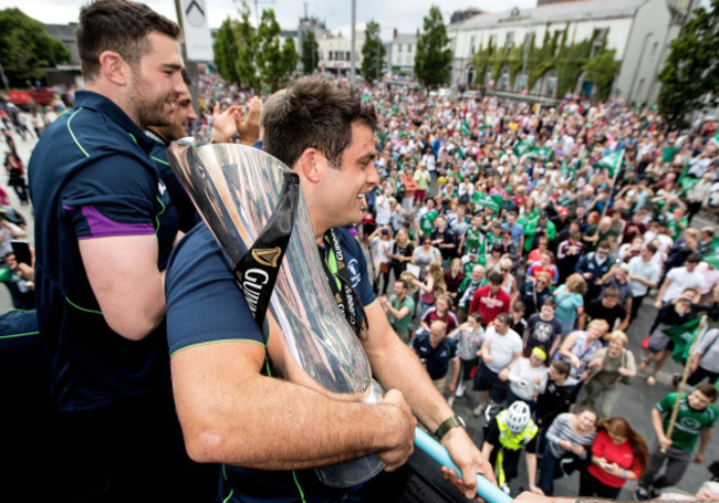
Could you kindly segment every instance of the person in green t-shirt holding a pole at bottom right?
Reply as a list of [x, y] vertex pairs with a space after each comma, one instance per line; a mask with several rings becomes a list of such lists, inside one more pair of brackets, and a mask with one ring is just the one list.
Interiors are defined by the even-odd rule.
[[[657, 443], [649, 457], [647, 469], [639, 479], [635, 500], [644, 501], [658, 496], [658, 489], [675, 485], [690, 462], [701, 463], [704, 453], [711, 441], [713, 426], [719, 409], [712, 404], [718, 391], [713, 385], [697, 386], [690, 394], [682, 394], [676, 422], [669, 437], [669, 418], [677, 401], [677, 394], [665, 396], [652, 410], [652, 426], [657, 434]], [[699, 449], [694, 449], [699, 440]], [[659, 471], [667, 463], [663, 474]]]

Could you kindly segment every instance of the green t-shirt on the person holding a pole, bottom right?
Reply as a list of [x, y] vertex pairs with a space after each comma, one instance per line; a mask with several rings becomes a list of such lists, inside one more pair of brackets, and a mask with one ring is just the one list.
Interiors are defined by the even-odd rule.
[[[669, 426], [669, 418], [674, 404], [677, 401], [677, 394], [670, 392], [657, 404], [657, 410], [661, 412], [661, 423], [666, 432]], [[691, 410], [687, 401], [687, 394], [681, 397], [679, 404], [679, 413], [677, 413], [677, 422], [671, 430], [671, 447], [682, 450], [694, 450], [697, 439], [705, 428], [713, 428], [717, 421], [719, 409], [715, 405], [707, 406], [704, 410]]]

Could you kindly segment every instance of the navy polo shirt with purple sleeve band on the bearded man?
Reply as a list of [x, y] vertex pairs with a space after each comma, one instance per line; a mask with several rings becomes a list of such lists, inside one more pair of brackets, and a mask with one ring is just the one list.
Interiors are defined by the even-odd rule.
[[152, 146], [117, 105], [79, 91], [73, 108], [48, 127], [30, 159], [38, 322], [61, 410], [92, 409], [169, 386], [165, 326], [137, 342], [113, 332], [77, 244], [156, 235], [157, 265], [166, 268], [177, 213], [149, 159]]

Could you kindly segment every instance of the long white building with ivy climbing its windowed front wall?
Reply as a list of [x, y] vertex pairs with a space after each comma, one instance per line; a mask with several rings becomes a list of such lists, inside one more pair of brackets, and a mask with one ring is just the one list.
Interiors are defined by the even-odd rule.
[[[554, 35], [567, 29], [566, 43], [591, 39], [593, 48], [606, 42], [607, 49], [616, 50], [621, 70], [614, 81], [614, 94], [628, 101], [653, 103], [659, 92], [656, 75], [668, 54], [669, 43], [686, 21], [692, 0], [574, 0], [550, 3], [534, 9], [517, 8], [501, 13], [481, 13], [450, 24], [448, 35], [454, 53], [452, 85], [475, 83], [487, 85], [491, 78], [475, 75], [472, 55], [481, 46], [509, 50], [531, 40], [541, 46], [545, 32]], [[530, 94], [554, 95], [556, 70], [550, 69], [529, 90]], [[580, 77], [580, 84], [582, 77]], [[525, 80], [517, 75], [513, 87], [509, 69], [501, 69], [497, 90], [521, 91]], [[574, 90], [591, 91], [590, 83]]]

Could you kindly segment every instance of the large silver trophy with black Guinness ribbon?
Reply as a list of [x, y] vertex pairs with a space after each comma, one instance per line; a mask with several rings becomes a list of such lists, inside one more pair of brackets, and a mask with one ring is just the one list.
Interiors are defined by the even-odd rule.
[[[376, 404], [382, 389], [327, 284], [296, 175], [269, 154], [236, 144], [195, 148], [179, 140], [168, 158], [235, 269], [274, 370], [335, 400]], [[284, 229], [286, 245], [253, 248], [264, 242], [267, 229]], [[253, 265], [240, 269], [247, 260]], [[265, 314], [260, 290], [272, 274]], [[383, 469], [368, 455], [319, 473], [327, 485], [348, 488]]]

